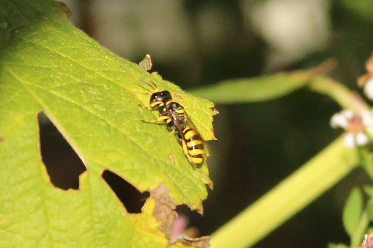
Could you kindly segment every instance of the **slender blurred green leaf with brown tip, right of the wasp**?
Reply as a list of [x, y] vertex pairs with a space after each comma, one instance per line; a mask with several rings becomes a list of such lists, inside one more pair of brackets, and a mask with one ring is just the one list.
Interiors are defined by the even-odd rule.
[[213, 86], [189, 90], [189, 93], [215, 103], [262, 102], [276, 99], [304, 86], [310, 71], [278, 73], [257, 78], [222, 81]]

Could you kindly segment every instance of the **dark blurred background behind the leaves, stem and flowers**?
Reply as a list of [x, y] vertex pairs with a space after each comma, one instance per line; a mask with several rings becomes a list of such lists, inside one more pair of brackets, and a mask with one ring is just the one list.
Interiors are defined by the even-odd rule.
[[[359, 91], [356, 79], [373, 51], [372, 0], [63, 2], [72, 22], [101, 45], [136, 63], [150, 54], [152, 71], [185, 90], [335, 58], [338, 67], [331, 76]], [[341, 133], [329, 127], [339, 106], [307, 89], [278, 100], [216, 108], [219, 140], [208, 142], [214, 190], [204, 202], [203, 217], [178, 209], [200, 235], [211, 234]], [[53, 183], [77, 188], [84, 167], [69, 145], [50, 123], [41, 127], [41, 138]], [[146, 195], [123, 189], [126, 183], [115, 175], [104, 177], [128, 209], [140, 209]], [[367, 183], [363, 170], [354, 171], [254, 247], [348, 243], [342, 207], [353, 186]]]

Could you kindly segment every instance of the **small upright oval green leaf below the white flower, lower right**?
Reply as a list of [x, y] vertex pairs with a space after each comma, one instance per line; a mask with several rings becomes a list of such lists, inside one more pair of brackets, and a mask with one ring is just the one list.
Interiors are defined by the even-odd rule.
[[348, 196], [342, 215], [343, 226], [350, 237], [358, 228], [362, 211], [363, 196], [358, 188], [354, 188]]

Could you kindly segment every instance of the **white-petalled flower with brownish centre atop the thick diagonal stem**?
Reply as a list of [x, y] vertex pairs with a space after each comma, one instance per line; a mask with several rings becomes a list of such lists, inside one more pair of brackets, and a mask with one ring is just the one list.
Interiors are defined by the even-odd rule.
[[373, 131], [372, 112], [355, 114], [351, 110], [336, 113], [330, 119], [332, 128], [341, 127], [346, 131], [345, 145], [348, 148], [363, 146], [369, 142], [367, 131]]

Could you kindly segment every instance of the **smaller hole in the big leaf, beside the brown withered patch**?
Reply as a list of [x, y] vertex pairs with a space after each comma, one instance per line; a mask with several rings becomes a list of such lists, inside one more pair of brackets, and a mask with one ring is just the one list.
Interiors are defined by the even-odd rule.
[[132, 184], [109, 170], [105, 170], [102, 177], [126, 207], [127, 212], [141, 213], [141, 207], [149, 197], [149, 192], [141, 193]]

